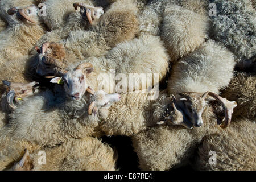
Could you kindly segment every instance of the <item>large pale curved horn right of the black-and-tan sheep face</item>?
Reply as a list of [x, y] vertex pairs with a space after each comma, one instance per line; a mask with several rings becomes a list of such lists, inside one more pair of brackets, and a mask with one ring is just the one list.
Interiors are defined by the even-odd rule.
[[224, 122], [222, 122], [220, 127], [222, 127], [222, 128], [228, 127], [230, 125], [230, 122], [232, 119], [232, 113], [234, 111], [234, 108], [237, 106], [237, 103], [235, 101], [230, 102], [226, 98], [222, 98], [221, 96], [219, 96], [218, 94], [213, 93], [213, 92], [209, 92], [208, 95], [215, 98], [224, 107], [225, 119], [224, 119]]

